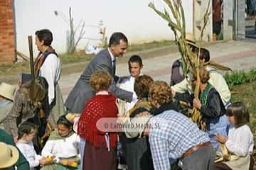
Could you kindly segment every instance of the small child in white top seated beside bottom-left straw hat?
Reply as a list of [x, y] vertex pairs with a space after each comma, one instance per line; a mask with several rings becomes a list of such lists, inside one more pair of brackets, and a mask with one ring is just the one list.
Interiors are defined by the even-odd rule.
[[30, 122], [24, 122], [18, 127], [18, 142], [16, 146], [28, 160], [30, 169], [36, 169], [39, 164], [44, 165], [46, 162], [41, 155], [36, 154], [33, 147], [33, 138], [36, 136], [36, 125]]

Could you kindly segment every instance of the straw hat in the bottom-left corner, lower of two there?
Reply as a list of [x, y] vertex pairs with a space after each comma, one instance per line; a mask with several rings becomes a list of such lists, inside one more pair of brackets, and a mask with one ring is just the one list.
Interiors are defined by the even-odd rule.
[[0, 142], [0, 169], [9, 168], [18, 161], [18, 149]]

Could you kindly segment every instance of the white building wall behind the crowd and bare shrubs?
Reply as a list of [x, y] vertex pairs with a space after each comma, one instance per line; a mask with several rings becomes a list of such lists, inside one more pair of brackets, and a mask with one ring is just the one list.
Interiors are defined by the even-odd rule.
[[[151, 0], [164, 11], [164, 1]], [[28, 55], [28, 35], [36, 30], [48, 28], [53, 32], [53, 47], [57, 52], [66, 50], [66, 32], [68, 23], [54, 11], [68, 17], [72, 8], [75, 25], [83, 19], [86, 25], [97, 26], [100, 21], [106, 27], [109, 38], [113, 32], [120, 31], [127, 35], [129, 43], [149, 42], [152, 40], [171, 40], [173, 34], [166, 21], [148, 7], [149, 0], [16, 0], [16, 41], [17, 50]], [[168, 7], [166, 7], [168, 8]], [[193, 0], [183, 0], [186, 13], [186, 31], [193, 31]], [[97, 28], [87, 27], [85, 37], [100, 38]], [[81, 40], [78, 48], [84, 48], [86, 39]], [[90, 45], [99, 41], [90, 40]], [[33, 47], [37, 54], [36, 46]]]

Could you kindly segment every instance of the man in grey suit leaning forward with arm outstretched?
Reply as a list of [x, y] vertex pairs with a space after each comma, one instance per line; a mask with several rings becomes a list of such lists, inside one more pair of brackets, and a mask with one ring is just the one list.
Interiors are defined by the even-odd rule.
[[109, 91], [112, 92], [117, 98], [124, 101], [132, 101], [135, 99], [132, 92], [119, 89], [114, 80], [117, 80], [115, 74], [115, 60], [116, 57], [122, 57], [128, 47], [127, 37], [123, 33], [113, 33], [110, 37], [109, 47], [100, 51], [88, 64], [85, 71], [81, 74], [80, 79], [76, 82], [72, 91], [68, 95], [65, 101], [65, 106], [70, 113], [82, 113], [82, 108], [85, 106], [85, 102], [88, 101], [95, 92], [90, 87], [90, 77], [95, 71], [102, 70], [110, 73], [114, 78], [110, 86]]

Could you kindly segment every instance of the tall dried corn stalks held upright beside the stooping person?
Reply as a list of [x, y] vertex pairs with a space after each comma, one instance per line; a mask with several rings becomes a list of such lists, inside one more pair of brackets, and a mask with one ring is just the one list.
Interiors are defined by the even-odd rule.
[[[183, 11], [183, 6], [181, 0], [164, 0], [171, 11], [171, 15], [174, 16], [174, 19], [170, 17], [169, 12], [164, 8], [164, 12], [156, 9], [154, 4], [149, 3], [149, 8], [152, 8], [161, 18], [166, 20], [171, 27], [171, 30], [174, 32], [175, 42], [178, 45], [178, 50], [181, 53], [182, 63], [183, 63], [183, 72], [188, 74], [190, 72], [193, 75], [193, 72], [196, 70], [196, 88], [195, 88], [195, 98], [199, 96], [199, 86], [200, 86], [200, 77], [199, 77], [199, 67], [200, 62], [198, 56], [196, 56], [192, 51], [189, 45], [186, 43], [186, 21]], [[202, 119], [202, 115], [197, 108], [192, 110], [192, 120], [195, 122], [201, 130], [205, 130], [205, 123]]]

